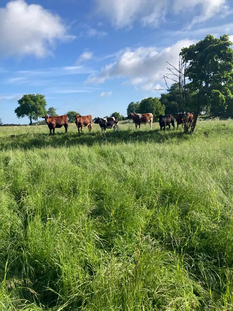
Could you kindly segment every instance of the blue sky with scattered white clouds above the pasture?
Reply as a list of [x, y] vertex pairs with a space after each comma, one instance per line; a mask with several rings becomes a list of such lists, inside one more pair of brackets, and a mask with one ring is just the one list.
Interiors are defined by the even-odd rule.
[[0, 118], [45, 95], [57, 114], [126, 115], [160, 96], [167, 63], [207, 34], [233, 41], [233, 0], [0, 0]]

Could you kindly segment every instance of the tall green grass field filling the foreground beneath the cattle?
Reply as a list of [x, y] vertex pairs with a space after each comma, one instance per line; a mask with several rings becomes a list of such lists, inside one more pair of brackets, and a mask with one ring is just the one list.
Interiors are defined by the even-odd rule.
[[120, 128], [0, 127], [1, 311], [233, 310], [233, 121]]

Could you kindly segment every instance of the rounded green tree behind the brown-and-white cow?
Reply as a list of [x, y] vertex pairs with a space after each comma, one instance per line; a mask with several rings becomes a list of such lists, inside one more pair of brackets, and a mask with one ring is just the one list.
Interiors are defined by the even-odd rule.
[[165, 106], [161, 104], [158, 97], [148, 97], [140, 101], [138, 113], [152, 113], [155, 117], [156, 115], [164, 114], [164, 111]]

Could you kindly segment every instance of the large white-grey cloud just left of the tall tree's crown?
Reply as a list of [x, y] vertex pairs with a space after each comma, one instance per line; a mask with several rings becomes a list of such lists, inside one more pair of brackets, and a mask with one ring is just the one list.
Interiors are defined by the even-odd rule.
[[144, 91], [153, 90], [167, 72], [167, 62], [178, 64], [178, 55], [182, 47], [190, 46], [194, 41], [180, 40], [170, 47], [158, 51], [155, 47], [127, 48], [117, 53], [118, 59], [103, 67], [98, 75], [91, 74], [86, 83], [104, 83], [115, 77], [126, 78], [135, 88]]

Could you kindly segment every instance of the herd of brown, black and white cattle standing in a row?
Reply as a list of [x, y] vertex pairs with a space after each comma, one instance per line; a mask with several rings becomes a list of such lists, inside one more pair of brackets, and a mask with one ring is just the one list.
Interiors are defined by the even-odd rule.
[[[77, 125], [79, 133], [80, 133], [80, 130], [82, 132], [83, 127], [86, 127], [86, 126], [88, 127], [89, 132], [91, 132], [92, 116], [90, 114], [87, 116], [81, 116], [79, 114], [75, 114], [75, 116], [73, 116], [73, 117], [75, 118], [75, 123]], [[162, 131], [162, 128], [165, 131], [166, 126], [168, 126], [168, 128], [171, 128], [171, 125], [175, 129], [175, 122], [174, 122], [174, 117], [172, 114], [167, 114], [165, 116], [160, 114], [159, 116], [156, 116], [156, 117], [159, 118], [160, 131]], [[68, 117], [67, 117], [67, 115], [56, 116], [56, 117], [49, 117], [48, 115], [46, 115], [46, 116], [41, 117], [41, 118], [44, 118], [45, 122], [48, 124], [50, 134], [52, 134], [52, 130], [53, 130], [53, 134], [54, 134], [55, 128], [61, 128], [62, 126], [64, 126], [64, 128], [67, 132], [67, 128], [68, 128]], [[151, 113], [148, 113], [148, 114], [130, 113], [128, 115], [127, 119], [133, 120], [133, 122], [135, 123], [136, 129], [138, 126], [141, 129], [141, 124], [147, 124], [147, 123], [149, 123], [149, 125], [150, 125], [150, 130], [152, 129], [153, 114], [151, 114]], [[192, 122], [193, 122], [193, 114], [192, 113], [187, 114], [186, 122], [189, 125], [192, 124]], [[114, 131], [117, 128], [118, 132], [120, 131], [117, 117], [97, 118], [94, 121], [94, 123], [99, 124], [99, 126], [102, 130], [102, 133], [104, 131], [104, 134], [106, 133], [106, 128], [113, 128]], [[183, 127], [184, 118], [183, 118], [182, 114], [177, 114], [176, 123], [177, 123], [177, 129], [179, 128], [180, 124]]]

